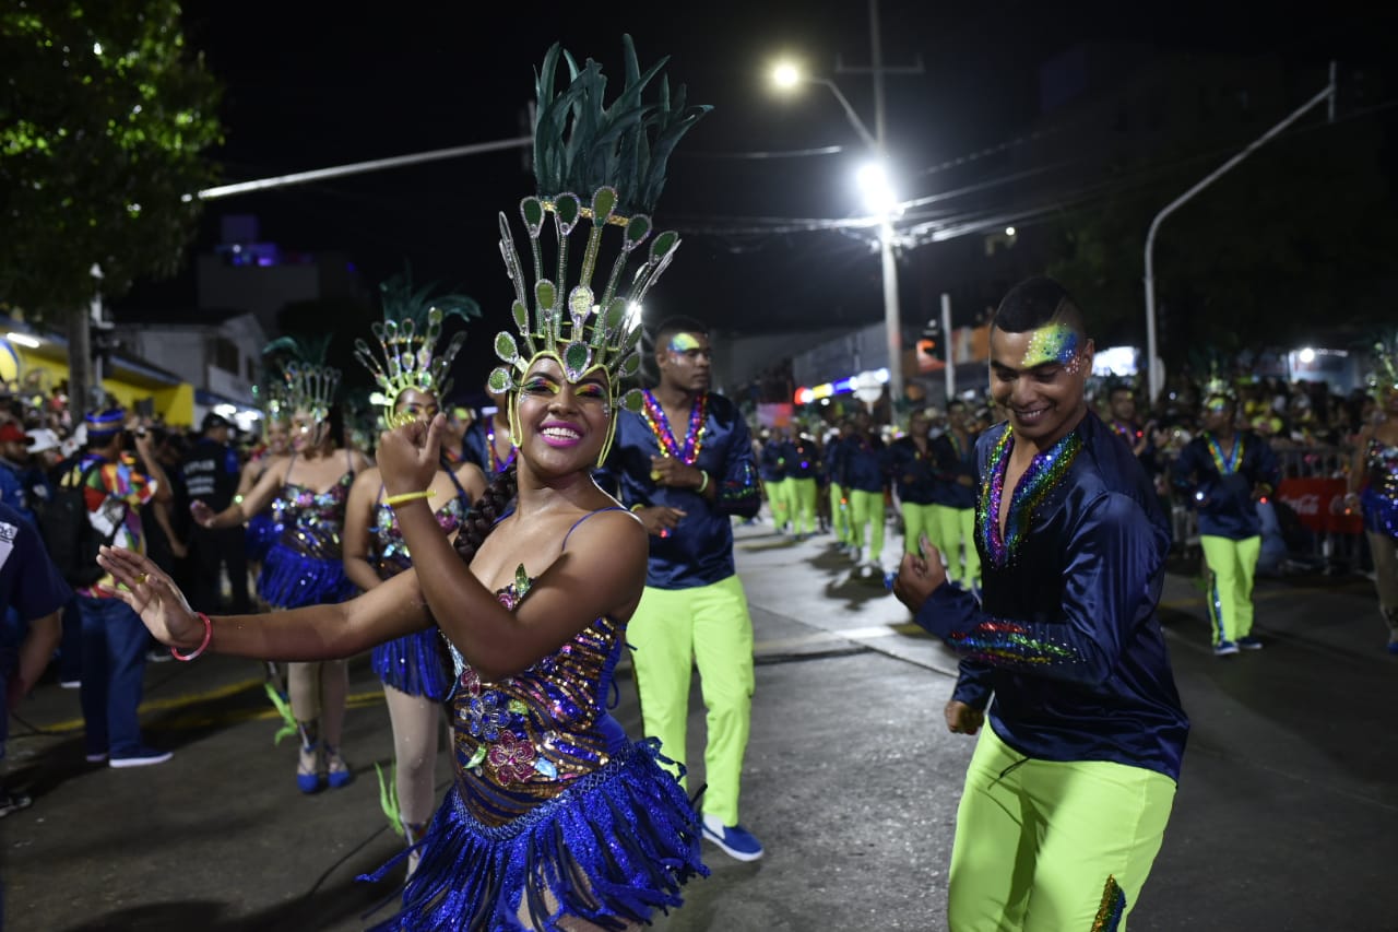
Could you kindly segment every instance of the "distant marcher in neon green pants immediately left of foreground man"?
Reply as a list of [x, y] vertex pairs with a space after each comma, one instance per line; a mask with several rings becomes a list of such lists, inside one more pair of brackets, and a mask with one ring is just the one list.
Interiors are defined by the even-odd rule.
[[946, 575], [973, 592], [980, 588], [980, 554], [976, 551], [976, 435], [974, 413], [966, 402], [946, 406], [946, 431], [932, 441], [938, 483], [932, 493], [928, 535], [946, 558]]

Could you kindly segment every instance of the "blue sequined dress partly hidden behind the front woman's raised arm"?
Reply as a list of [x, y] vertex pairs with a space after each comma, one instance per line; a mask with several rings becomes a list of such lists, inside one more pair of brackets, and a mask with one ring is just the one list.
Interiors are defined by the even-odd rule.
[[[454, 533], [467, 508], [460, 495], [442, 507], [435, 515], [442, 532]], [[397, 512], [382, 500], [375, 505], [373, 528], [369, 529], [369, 563], [380, 579], [396, 577], [412, 565]], [[394, 638], [373, 649], [373, 672], [400, 693], [440, 702], [452, 691], [452, 676], [442, 663], [440, 645], [442, 634], [436, 626]]]

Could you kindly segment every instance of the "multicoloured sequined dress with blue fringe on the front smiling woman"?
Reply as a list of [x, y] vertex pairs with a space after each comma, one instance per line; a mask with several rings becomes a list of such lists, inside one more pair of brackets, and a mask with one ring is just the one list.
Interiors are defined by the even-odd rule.
[[[500, 603], [514, 609], [528, 585], [520, 575]], [[496, 683], [453, 649], [456, 777], [403, 911], [377, 932], [649, 924], [681, 904], [681, 884], [707, 876], [698, 816], [656, 742], [630, 742], [605, 708], [624, 645], [625, 626], [603, 617]]]

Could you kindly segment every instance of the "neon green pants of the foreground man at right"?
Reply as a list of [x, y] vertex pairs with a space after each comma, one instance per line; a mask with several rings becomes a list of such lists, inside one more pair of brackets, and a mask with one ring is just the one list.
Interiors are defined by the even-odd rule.
[[[1165, 774], [1026, 758], [987, 723], [956, 812], [948, 926], [1124, 932], [1173, 806], [1174, 781]], [[1118, 918], [1095, 925], [1104, 901]]]

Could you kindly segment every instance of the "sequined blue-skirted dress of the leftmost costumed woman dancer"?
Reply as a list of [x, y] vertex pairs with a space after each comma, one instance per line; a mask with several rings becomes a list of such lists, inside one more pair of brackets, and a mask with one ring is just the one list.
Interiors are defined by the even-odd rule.
[[[288, 466], [288, 472], [289, 472]], [[345, 577], [341, 533], [354, 470], [323, 493], [287, 483], [273, 501], [281, 537], [267, 551], [257, 595], [273, 609], [334, 605], [358, 588]]]

